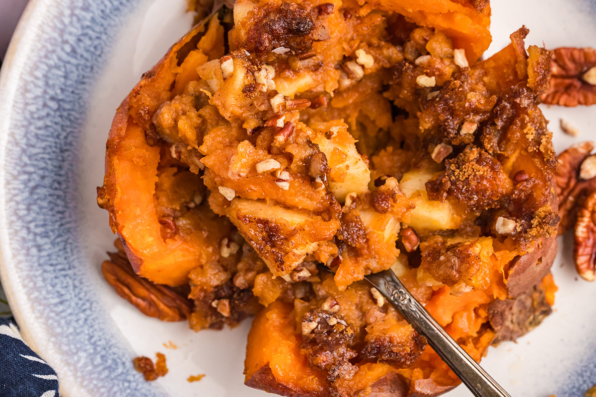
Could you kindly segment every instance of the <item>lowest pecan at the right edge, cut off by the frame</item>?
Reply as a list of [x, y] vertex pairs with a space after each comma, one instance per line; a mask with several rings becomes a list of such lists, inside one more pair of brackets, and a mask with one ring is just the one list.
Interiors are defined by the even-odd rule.
[[596, 268], [596, 191], [586, 199], [575, 225], [573, 259], [580, 276], [594, 281]]

